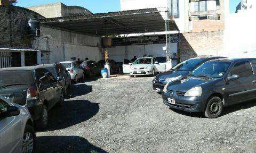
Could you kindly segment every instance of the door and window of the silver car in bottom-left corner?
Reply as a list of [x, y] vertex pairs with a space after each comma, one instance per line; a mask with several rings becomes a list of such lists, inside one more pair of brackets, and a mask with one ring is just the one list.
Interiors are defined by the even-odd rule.
[[0, 152], [19, 152], [21, 149], [22, 131], [20, 116], [4, 117], [10, 104], [0, 99]]

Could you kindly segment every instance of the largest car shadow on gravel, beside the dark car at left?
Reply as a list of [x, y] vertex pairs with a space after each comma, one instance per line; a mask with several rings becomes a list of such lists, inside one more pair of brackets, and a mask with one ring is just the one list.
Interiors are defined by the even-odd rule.
[[65, 129], [87, 121], [99, 112], [99, 104], [88, 100], [67, 100], [62, 107], [49, 111], [47, 128], [43, 131]]

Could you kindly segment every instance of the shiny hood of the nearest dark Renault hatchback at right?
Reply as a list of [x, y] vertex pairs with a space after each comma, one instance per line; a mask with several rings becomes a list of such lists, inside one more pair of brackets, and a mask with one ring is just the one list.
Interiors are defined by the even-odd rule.
[[185, 79], [177, 80], [169, 83], [167, 90], [187, 92], [197, 86], [203, 86], [205, 83], [209, 83], [213, 80], [207, 80], [203, 78], [187, 77]]

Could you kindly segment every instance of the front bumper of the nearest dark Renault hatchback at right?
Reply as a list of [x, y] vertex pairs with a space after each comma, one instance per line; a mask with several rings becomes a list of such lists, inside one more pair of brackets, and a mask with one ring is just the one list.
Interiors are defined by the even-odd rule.
[[[185, 97], [185, 96], [176, 96], [173, 94], [162, 92], [163, 103], [174, 109], [179, 109], [185, 112], [204, 112], [205, 100], [202, 97]], [[170, 104], [168, 98], [175, 100], [175, 104]]]

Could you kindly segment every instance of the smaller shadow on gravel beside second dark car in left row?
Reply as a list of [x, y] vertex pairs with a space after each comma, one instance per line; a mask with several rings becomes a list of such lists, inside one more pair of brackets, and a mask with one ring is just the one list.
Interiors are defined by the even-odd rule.
[[77, 96], [83, 96], [86, 94], [89, 94], [92, 92], [92, 86], [87, 86], [86, 84], [73, 84], [69, 89], [68, 89], [68, 94], [67, 98], [74, 98]]

